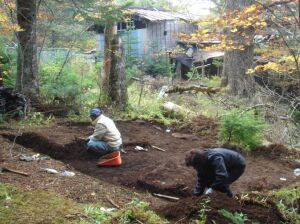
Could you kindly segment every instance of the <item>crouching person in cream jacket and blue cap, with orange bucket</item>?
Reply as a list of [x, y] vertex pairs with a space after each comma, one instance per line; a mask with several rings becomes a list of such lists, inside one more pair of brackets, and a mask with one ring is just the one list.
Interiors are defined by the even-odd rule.
[[[91, 109], [90, 118], [92, 124], [95, 125], [95, 129], [94, 133], [88, 137], [88, 152], [100, 157], [97, 165], [121, 165], [120, 146], [122, 144], [122, 138], [115, 123], [110, 118], [104, 116], [100, 108]], [[109, 160], [112, 161], [103, 163]]]

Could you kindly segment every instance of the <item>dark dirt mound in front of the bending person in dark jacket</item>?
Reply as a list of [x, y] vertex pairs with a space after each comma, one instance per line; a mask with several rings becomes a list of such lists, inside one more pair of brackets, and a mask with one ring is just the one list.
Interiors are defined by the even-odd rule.
[[277, 224], [287, 221], [283, 219], [276, 206], [272, 203], [265, 206], [255, 201], [243, 203], [240, 200], [228, 198], [225, 194], [218, 192], [214, 192], [210, 196], [188, 197], [173, 205], [161, 207], [157, 212], [172, 222], [189, 223], [189, 220], [197, 219], [199, 212], [202, 210], [205, 211], [207, 223], [232, 223], [220, 213], [221, 209], [232, 213], [243, 213], [251, 222]]

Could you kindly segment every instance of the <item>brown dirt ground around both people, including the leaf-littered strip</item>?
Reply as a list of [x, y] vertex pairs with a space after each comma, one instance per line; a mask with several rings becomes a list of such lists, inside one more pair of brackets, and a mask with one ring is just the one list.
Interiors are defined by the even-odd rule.
[[[195, 182], [195, 171], [184, 165], [184, 157], [189, 149], [217, 146], [216, 125], [207, 118], [198, 117], [194, 120], [193, 127], [185, 125], [177, 129], [144, 121], [120, 121], [117, 122], [117, 126], [122, 133], [123, 149], [126, 152], [122, 154], [123, 164], [118, 168], [99, 168], [95, 165], [96, 158], [87, 154], [85, 143], [79, 138], [92, 133], [93, 127], [89, 124], [61, 123], [48, 128], [25, 129], [19, 131], [22, 135], [18, 137], [16, 137], [18, 130], [2, 129], [1, 166], [22, 170], [31, 176], [23, 177], [6, 172], [0, 174], [0, 181], [18, 184], [27, 189], [52, 190], [80, 202], [101, 201], [104, 204], [109, 204], [111, 201], [109, 199], [112, 199], [122, 205], [132, 198], [133, 192], [139, 192], [143, 200], [150, 202], [153, 209], [171, 221], [192, 216], [181, 211], [178, 216], [170, 217], [167, 208], [175, 209], [176, 203], [155, 198], [151, 193], [179, 197], [181, 200], [178, 203], [183, 203], [184, 207], [189, 208], [195, 203], [197, 205], [198, 199], [190, 197]], [[192, 135], [193, 132], [197, 135]], [[135, 151], [137, 145], [147, 148], [148, 151]], [[165, 151], [151, 146], [157, 146]], [[10, 151], [13, 154], [12, 158]], [[49, 155], [51, 159], [33, 162], [18, 159], [21, 154], [35, 153]], [[293, 160], [300, 158], [299, 153], [295, 151], [281, 145], [271, 145], [244, 156], [247, 162], [246, 171], [232, 186], [232, 191], [236, 194], [277, 189], [300, 180], [293, 174], [293, 170], [299, 167]], [[75, 171], [76, 175], [61, 177], [48, 174], [41, 168]], [[214, 197], [211, 203], [212, 207], [219, 204]], [[251, 216], [253, 213], [251, 206], [253, 207], [253, 205], [237, 205], [235, 210], [246, 212]], [[272, 206], [270, 208], [274, 209]], [[264, 208], [259, 209], [263, 211]], [[272, 213], [271, 210], [268, 210], [269, 213]], [[263, 217], [266, 218], [269, 213]], [[280, 220], [276, 214], [274, 213], [274, 217], [271, 218], [275, 220], [274, 222], [262, 222], [264, 218], [258, 221], [276, 223], [276, 220]], [[187, 223], [186, 218], [181, 223]]]

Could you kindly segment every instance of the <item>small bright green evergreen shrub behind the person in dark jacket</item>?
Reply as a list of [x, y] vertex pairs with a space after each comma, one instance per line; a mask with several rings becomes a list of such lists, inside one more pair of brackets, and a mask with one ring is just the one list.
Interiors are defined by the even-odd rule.
[[221, 118], [219, 139], [223, 143], [253, 150], [261, 146], [264, 126], [262, 118], [253, 111], [231, 110]]

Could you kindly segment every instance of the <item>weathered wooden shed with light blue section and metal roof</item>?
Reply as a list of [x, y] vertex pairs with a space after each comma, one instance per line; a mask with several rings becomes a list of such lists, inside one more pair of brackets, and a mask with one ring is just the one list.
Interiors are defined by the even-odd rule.
[[[129, 19], [118, 22], [120, 35], [126, 55], [147, 59], [157, 53], [164, 53], [176, 47], [179, 33], [191, 33], [196, 29], [191, 19], [181, 13], [157, 9], [129, 9]], [[103, 54], [104, 29], [95, 27], [96, 49]]]

